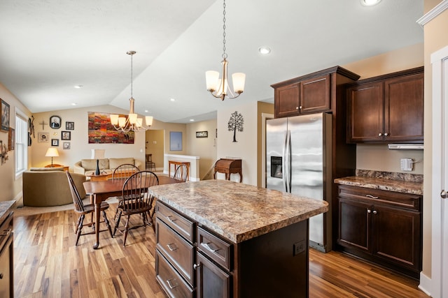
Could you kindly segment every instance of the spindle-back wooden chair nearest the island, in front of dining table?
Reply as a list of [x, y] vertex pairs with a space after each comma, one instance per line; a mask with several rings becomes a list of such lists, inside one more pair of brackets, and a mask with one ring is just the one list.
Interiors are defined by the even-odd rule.
[[[151, 209], [153, 208], [154, 197], [148, 193], [148, 188], [159, 184], [156, 174], [151, 171], [141, 171], [132, 174], [123, 185], [123, 202], [118, 206], [118, 216], [115, 222], [113, 234], [118, 230], [125, 235], [123, 246], [126, 245], [127, 233], [129, 230], [153, 225], [151, 221]], [[130, 226], [130, 216], [141, 215], [142, 223]], [[125, 227], [120, 229], [121, 216], [127, 216]]]

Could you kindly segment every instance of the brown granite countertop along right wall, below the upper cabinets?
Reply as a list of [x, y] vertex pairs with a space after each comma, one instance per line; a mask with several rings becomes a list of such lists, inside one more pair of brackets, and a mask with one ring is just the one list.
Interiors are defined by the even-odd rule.
[[335, 183], [423, 195], [423, 179], [407, 179], [406, 177], [398, 177], [393, 174], [370, 175], [370, 177], [356, 175], [335, 179]]

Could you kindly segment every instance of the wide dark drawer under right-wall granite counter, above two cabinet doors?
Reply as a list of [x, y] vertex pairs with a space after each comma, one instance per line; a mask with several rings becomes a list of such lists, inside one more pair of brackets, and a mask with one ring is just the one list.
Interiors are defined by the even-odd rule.
[[364, 188], [359, 186], [338, 186], [338, 195], [342, 198], [364, 200], [372, 204], [386, 204], [394, 207], [420, 210], [420, 195], [396, 193], [381, 189]]

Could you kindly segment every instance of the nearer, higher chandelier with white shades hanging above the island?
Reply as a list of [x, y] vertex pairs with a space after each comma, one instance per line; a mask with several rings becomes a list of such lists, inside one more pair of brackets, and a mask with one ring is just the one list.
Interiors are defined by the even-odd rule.
[[207, 91], [216, 98], [224, 100], [225, 96], [228, 98], [237, 98], [244, 91], [244, 82], [246, 81], [246, 74], [234, 73], [232, 74], [233, 92], [229, 87], [229, 80], [227, 78], [227, 53], [225, 52], [225, 0], [223, 3], [223, 76], [220, 79], [218, 71], [209, 70], [205, 73], [205, 80], [207, 84]]

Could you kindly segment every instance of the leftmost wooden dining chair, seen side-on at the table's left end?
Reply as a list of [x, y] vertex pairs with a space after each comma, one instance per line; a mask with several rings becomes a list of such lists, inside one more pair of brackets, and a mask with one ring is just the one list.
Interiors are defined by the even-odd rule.
[[[69, 186], [71, 191], [71, 197], [73, 198], [73, 205], [75, 207], [75, 212], [79, 214], [78, 222], [76, 223], [76, 243], [75, 246], [78, 245], [79, 237], [80, 235], [85, 234], [94, 234], [95, 229], [99, 229], [99, 227], [95, 227], [94, 223], [90, 221], [90, 223], [84, 224], [84, 218], [86, 214], [93, 214], [94, 213], [94, 204], [84, 204], [83, 200], [80, 198], [80, 195], [78, 193], [78, 189], [76, 188], [76, 185], [73, 182], [73, 178], [71, 177], [69, 171], [65, 171], [67, 175], [67, 179], [69, 179]], [[111, 237], [113, 237], [111, 225], [109, 224], [109, 220], [106, 216], [106, 209], [109, 209], [109, 204], [107, 202], [101, 203], [101, 212], [103, 215], [103, 221], [100, 221], [100, 223], [106, 223], [106, 227], [109, 230], [109, 233], [111, 234]], [[92, 218], [92, 216], [91, 216]], [[93, 227], [90, 232], [82, 233], [84, 226]], [[99, 232], [104, 232], [106, 230], [99, 230]]]

